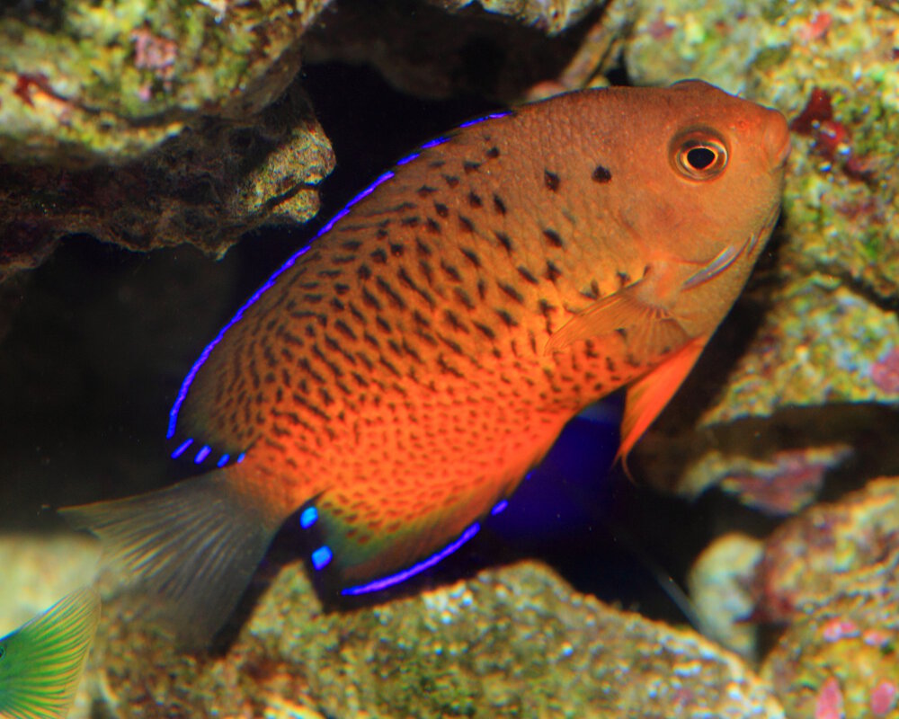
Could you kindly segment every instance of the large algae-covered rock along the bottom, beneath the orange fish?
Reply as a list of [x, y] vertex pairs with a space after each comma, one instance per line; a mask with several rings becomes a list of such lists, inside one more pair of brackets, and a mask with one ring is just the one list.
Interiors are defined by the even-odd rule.
[[330, 613], [288, 567], [223, 655], [176, 652], [117, 607], [92, 660], [110, 716], [783, 716], [733, 655], [540, 564]]

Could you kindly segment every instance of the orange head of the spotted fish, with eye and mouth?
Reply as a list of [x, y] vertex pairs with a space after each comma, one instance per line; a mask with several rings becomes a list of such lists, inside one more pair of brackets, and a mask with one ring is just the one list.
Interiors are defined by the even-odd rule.
[[691, 333], [706, 333], [777, 221], [787, 120], [699, 80], [647, 92], [654, 102], [642, 103], [639, 126], [628, 130], [645, 148], [628, 183], [640, 189], [620, 206], [647, 273], [660, 278], [659, 304], [694, 315]]

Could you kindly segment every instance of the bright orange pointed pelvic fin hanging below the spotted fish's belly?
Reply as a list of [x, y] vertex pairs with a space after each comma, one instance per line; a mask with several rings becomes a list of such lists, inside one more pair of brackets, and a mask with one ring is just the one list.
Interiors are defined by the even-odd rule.
[[677, 392], [684, 378], [690, 374], [690, 369], [696, 364], [707, 341], [708, 337], [691, 340], [670, 359], [666, 359], [649, 374], [640, 377], [628, 387], [624, 418], [621, 420], [621, 446], [616, 456], [616, 459], [621, 459], [626, 470], [628, 453], [634, 448], [636, 440], [643, 436], [649, 425], [662, 412], [665, 404], [668, 404]]

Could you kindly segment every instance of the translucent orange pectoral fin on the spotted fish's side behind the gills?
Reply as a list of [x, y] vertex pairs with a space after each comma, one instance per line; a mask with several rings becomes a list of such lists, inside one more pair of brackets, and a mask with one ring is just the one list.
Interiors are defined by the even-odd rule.
[[654, 357], [681, 347], [689, 335], [668, 310], [646, 301], [645, 282], [619, 289], [574, 315], [549, 338], [545, 353], [565, 351], [574, 342], [617, 330], [628, 331], [628, 347], [640, 357]]

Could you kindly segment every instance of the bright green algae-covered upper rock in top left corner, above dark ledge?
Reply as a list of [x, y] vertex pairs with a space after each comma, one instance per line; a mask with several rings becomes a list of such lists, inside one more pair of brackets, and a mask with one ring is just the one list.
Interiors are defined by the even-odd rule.
[[[203, 116], [246, 118], [287, 88], [327, 0], [60, 0], [0, 14], [0, 158], [133, 159]], [[52, 17], [48, 17], [51, 14]]]

